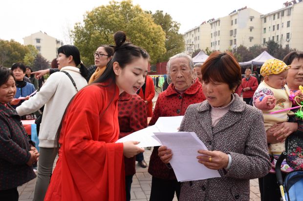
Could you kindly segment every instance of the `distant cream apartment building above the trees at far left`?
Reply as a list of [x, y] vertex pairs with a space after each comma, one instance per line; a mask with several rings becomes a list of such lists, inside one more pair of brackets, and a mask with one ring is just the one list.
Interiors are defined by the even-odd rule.
[[24, 37], [23, 41], [24, 45], [35, 46], [38, 52], [50, 62], [58, 57], [57, 50], [63, 45], [61, 40], [48, 36], [42, 31]]

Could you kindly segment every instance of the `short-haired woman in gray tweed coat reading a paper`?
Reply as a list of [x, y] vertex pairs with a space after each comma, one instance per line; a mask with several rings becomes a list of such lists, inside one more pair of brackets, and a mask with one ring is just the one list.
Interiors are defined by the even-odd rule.
[[[180, 131], [196, 133], [208, 149], [197, 150], [197, 163], [221, 177], [182, 183], [180, 201], [249, 201], [249, 180], [271, 167], [262, 113], [234, 94], [241, 71], [230, 53], [210, 55], [201, 73], [207, 100], [188, 107]], [[173, 157], [166, 146], [158, 155], [164, 163]]]

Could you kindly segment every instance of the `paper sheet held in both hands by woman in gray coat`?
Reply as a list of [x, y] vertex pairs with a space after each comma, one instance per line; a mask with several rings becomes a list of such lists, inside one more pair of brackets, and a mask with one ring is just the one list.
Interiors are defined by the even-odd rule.
[[153, 138], [161, 145], [172, 149], [173, 158], [170, 164], [178, 182], [203, 180], [221, 177], [217, 170], [212, 170], [198, 163], [196, 158], [199, 149], [207, 150], [195, 132], [156, 133]]

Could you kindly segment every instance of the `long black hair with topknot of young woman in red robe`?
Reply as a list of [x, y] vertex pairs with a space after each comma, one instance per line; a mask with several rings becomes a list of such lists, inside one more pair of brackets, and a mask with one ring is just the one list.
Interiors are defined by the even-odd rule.
[[[116, 46], [113, 46], [114, 47], [113, 57], [111, 58], [111, 60], [109, 60], [104, 73], [92, 83], [99, 87], [114, 86], [114, 85], [112, 85], [113, 83], [115, 83], [115, 80], [116, 80], [116, 76], [113, 71], [114, 62], [118, 62], [119, 66], [121, 68], [124, 68], [127, 64], [131, 63], [136, 58], [140, 58], [140, 57], [143, 57], [145, 59], [150, 58], [150, 55], [143, 48], [133, 45], [130, 42], [125, 42], [126, 34], [123, 31], [118, 31], [114, 34], [114, 41], [115, 41]], [[58, 50], [58, 53], [59, 53], [59, 50]], [[104, 83], [108, 83], [108, 84], [104, 84]], [[100, 114], [100, 116], [102, 116], [104, 114], [104, 112], [108, 109], [108, 107], [110, 106], [111, 102], [114, 99], [114, 96], [115, 96], [115, 94], [113, 95], [113, 97], [110, 100], [106, 109], [103, 111], [102, 114]], [[58, 127], [58, 130], [56, 133], [56, 138], [55, 138], [56, 149], [59, 149], [60, 133], [61, 133], [61, 128], [62, 128], [62, 124], [63, 124], [64, 118], [65, 118], [66, 111], [68, 110], [69, 105], [73, 101], [74, 97], [68, 103], [68, 105], [65, 109], [65, 112], [63, 114], [63, 117], [61, 119], [61, 123]]]

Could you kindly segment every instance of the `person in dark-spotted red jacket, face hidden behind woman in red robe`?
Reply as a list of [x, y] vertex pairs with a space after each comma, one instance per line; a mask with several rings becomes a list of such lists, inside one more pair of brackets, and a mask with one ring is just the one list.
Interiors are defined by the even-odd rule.
[[[120, 127], [119, 138], [147, 127], [146, 104], [137, 94], [123, 92], [118, 99], [118, 120]], [[124, 157], [126, 201], [130, 201], [132, 176], [136, 173], [135, 156]]]

